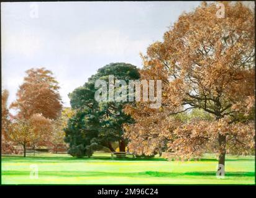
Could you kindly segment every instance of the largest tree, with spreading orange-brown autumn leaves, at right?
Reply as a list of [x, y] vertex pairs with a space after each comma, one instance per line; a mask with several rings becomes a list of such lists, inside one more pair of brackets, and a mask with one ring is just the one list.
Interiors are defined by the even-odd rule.
[[145, 115], [168, 117], [192, 109], [213, 115], [213, 121], [194, 119], [176, 129], [158, 130], [166, 129], [175, 137], [168, 145], [181, 157], [211, 148], [218, 153], [219, 166], [224, 166], [229, 150], [254, 148], [255, 115], [254, 13], [240, 2], [223, 4], [224, 18], [216, 17], [214, 3], [203, 2], [181, 15], [163, 42], [147, 49], [141, 79], [162, 80], [162, 107], [150, 110], [145, 103], [127, 107], [128, 113], [139, 117], [137, 123]]

